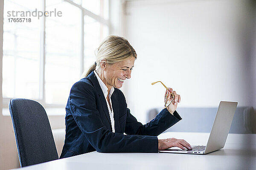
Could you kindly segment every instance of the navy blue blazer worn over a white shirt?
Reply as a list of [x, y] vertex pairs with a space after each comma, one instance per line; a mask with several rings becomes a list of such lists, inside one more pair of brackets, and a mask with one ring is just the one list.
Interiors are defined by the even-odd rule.
[[[66, 136], [60, 158], [92, 151], [157, 153], [157, 136], [181, 118], [167, 109], [145, 125], [127, 108], [125, 96], [115, 88], [112, 96], [115, 133], [107, 102], [94, 72], [76, 82], [66, 106]], [[124, 135], [126, 133], [127, 135]]]

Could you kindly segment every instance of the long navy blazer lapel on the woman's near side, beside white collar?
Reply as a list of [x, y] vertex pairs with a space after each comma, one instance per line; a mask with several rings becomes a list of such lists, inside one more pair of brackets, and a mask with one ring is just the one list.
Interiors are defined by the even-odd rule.
[[91, 79], [91, 81], [92, 81], [92, 83], [94, 85], [94, 88], [98, 92], [100, 103], [102, 105], [104, 114], [105, 114], [106, 118], [108, 119], [108, 123], [109, 123], [109, 125], [111, 127], [111, 120], [110, 120], [110, 115], [109, 115], [109, 112], [108, 112], [108, 105], [107, 105], [105, 96], [103, 94], [102, 88], [99, 85], [99, 81], [98, 81], [98, 79], [97, 79], [97, 77], [96, 77], [96, 75], [94, 74], [93, 71], [88, 76], [90, 77], [90, 79]]

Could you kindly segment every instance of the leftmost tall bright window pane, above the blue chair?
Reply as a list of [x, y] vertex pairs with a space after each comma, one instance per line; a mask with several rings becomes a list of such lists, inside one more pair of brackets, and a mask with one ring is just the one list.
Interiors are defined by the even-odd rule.
[[[26, 4], [26, 6], [24, 5]], [[9, 22], [22, 18], [16, 11], [41, 9], [40, 0], [4, 1], [3, 97], [39, 99], [41, 18], [31, 22]], [[12, 12], [14, 11], [14, 12]], [[8, 15], [10, 14], [10, 15]]]

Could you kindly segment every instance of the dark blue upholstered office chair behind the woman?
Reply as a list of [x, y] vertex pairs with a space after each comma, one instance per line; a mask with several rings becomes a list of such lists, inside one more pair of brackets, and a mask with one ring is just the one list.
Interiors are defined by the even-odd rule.
[[11, 99], [9, 111], [20, 167], [58, 159], [52, 130], [42, 105], [29, 99]]

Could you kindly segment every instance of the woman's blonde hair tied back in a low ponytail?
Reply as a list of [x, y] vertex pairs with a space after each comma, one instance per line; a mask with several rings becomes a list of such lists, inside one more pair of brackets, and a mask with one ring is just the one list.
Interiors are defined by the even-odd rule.
[[134, 57], [137, 59], [137, 54], [134, 48], [130, 45], [128, 40], [124, 37], [110, 35], [101, 42], [95, 50], [96, 64], [82, 74], [82, 78], [87, 77], [92, 71], [100, 68], [100, 62], [107, 62], [113, 64]]

